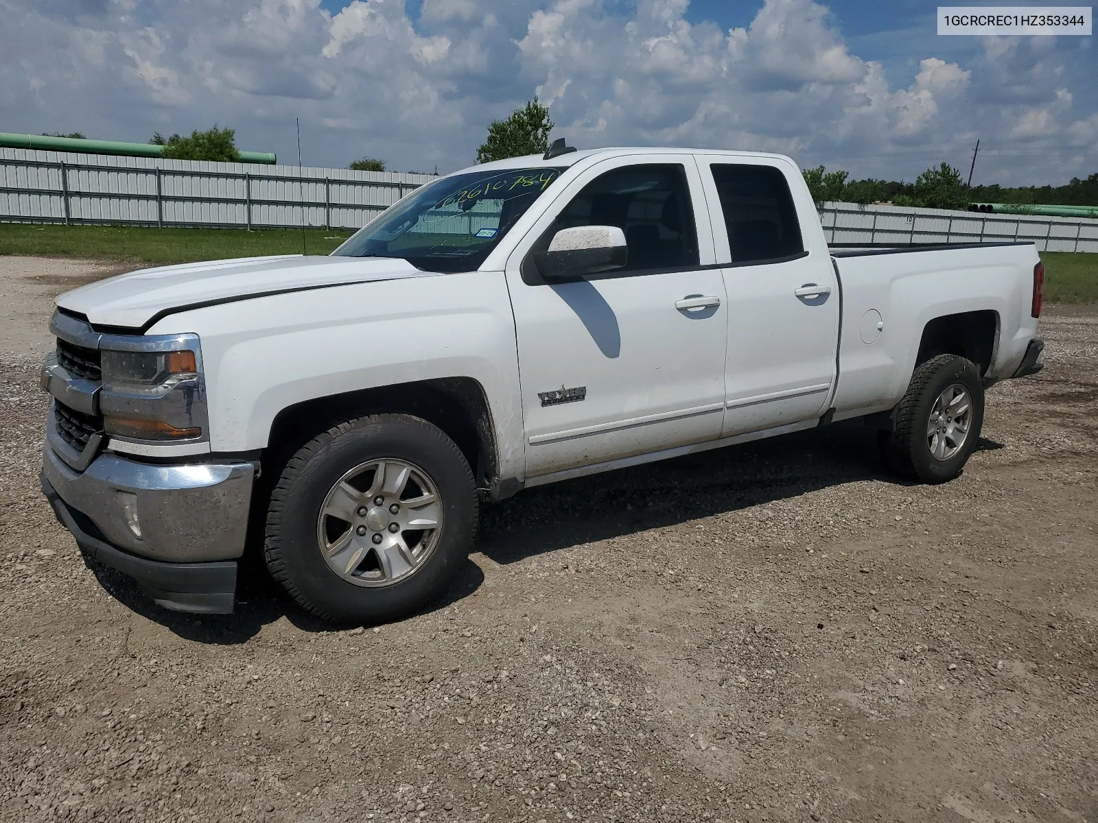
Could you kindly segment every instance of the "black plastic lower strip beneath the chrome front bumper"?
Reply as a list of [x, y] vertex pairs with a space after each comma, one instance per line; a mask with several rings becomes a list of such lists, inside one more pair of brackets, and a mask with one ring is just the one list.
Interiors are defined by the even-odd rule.
[[45, 476], [42, 493], [57, 521], [72, 532], [77, 544], [105, 566], [132, 577], [158, 605], [173, 611], [228, 615], [236, 595], [236, 561], [166, 563], [122, 551], [103, 540], [96, 525], [61, 499]]

